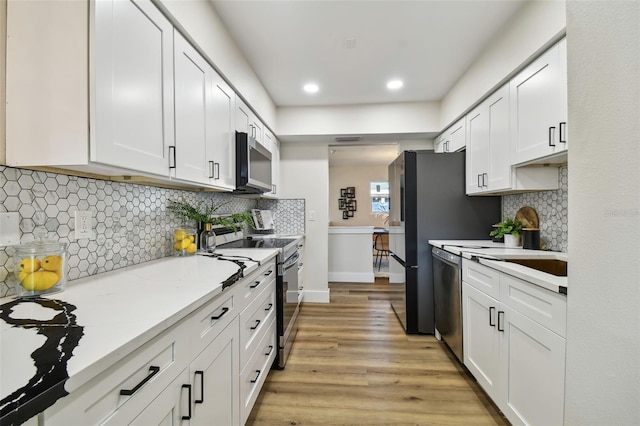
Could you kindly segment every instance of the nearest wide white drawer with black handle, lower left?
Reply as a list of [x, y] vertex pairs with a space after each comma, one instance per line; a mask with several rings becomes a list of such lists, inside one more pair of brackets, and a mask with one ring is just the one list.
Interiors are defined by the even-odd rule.
[[183, 321], [160, 334], [60, 399], [45, 411], [45, 423], [128, 424], [188, 365], [189, 332]]

